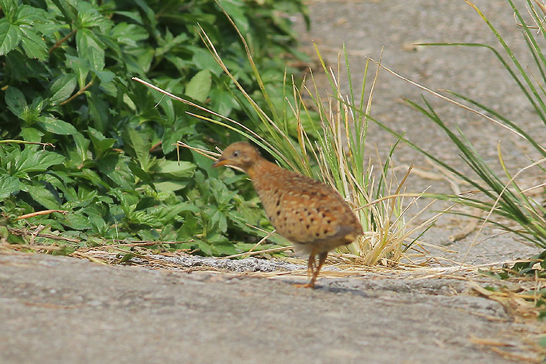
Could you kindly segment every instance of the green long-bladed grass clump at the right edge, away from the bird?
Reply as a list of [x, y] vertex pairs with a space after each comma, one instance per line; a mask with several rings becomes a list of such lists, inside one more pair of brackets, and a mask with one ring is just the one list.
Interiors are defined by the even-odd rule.
[[[541, 48], [541, 42], [546, 41], [546, 27], [544, 25], [546, 6], [542, 5], [539, 1], [526, 1], [526, 9], [530, 19], [532, 19], [532, 22], [528, 22], [526, 17], [522, 15], [520, 9], [514, 5], [514, 2], [506, 0], [511, 10], [514, 11], [514, 18], [516, 20], [514, 27], [517, 26], [521, 29], [521, 40], [526, 42], [528, 52], [533, 58], [534, 64], [532, 67], [535, 68], [536, 71], [531, 71], [530, 67], [524, 66], [518, 60], [518, 56], [516, 56], [509, 45], [506, 44], [502, 35], [499, 34], [495, 25], [487, 19], [485, 14], [471, 1], [466, 2], [478, 13], [495, 37], [497, 37], [500, 50], [495, 49], [495, 47], [490, 44], [483, 43], [427, 43], [419, 45], [480, 47], [492, 51], [492, 56], [499, 60], [504, 70], [509, 73], [510, 77], [516, 82], [517, 87], [514, 89], [514, 92], [521, 92], [521, 95], [524, 95], [530, 107], [535, 111], [536, 117], [544, 124], [543, 130], [546, 131], [546, 57]], [[393, 71], [388, 71], [394, 73]], [[396, 73], [394, 74], [396, 75]], [[399, 75], [399, 77], [401, 76]], [[413, 83], [412, 81], [409, 82]], [[417, 85], [415, 83], [413, 84]], [[440, 116], [435, 112], [435, 109], [424, 97], [424, 104], [407, 100], [411, 107], [423, 113], [423, 115], [439, 126], [439, 128], [442, 128], [449, 139], [451, 139], [459, 149], [464, 162], [466, 162], [466, 164], [475, 172], [475, 176], [469, 176], [448, 162], [439, 159], [439, 157], [426, 152], [418, 145], [404, 139], [405, 142], [408, 142], [416, 150], [423, 152], [427, 157], [438, 164], [441, 164], [449, 171], [459, 176], [459, 178], [473, 186], [473, 191], [471, 193], [461, 195], [436, 195], [435, 197], [457, 202], [468, 207], [478, 208], [483, 211], [483, 214], [480, 214], [479, 216], [467, 216], [481, 219], [483, 224], [487, 222], [504, 231], [515, 233], [524, 240], [530, 241], [539, 248], [545, 249], [542, 254], [535, 257], [536, 259], [532, 259], [530, 263], [526, 263], [525, 267], [522, 265], [518, 266], [526, 271], [536, 270], [536, 272], [545, 272], [543, 269], [546, 268], [546, 210], [544, 207], [543, 193], [537, 194], [536, 192], [537, 190], [544, 188], [546, 183], [539, 183], [535, 186], [523, 186], [521, 183], [521, 178], [523, 176], [528, 176], [530, 171], [538, 173], [539, 176], [546, 177], [546, 169], [544, 168], [544, 163], [546, 162], [546, 149], [536, 138], [536, 132], [531, 131], [530, 128], [521, 123], [520, 120], [506, 116], [492, 107], [488, 107], [486, 104], [482, 104], [465, 95], [451, 91], [447, 91], [449, 96], [440, 95], [422, 85], [417, 86], [436, 97], [440, 97], [459, 107], [463, 107], [468, 111], [483, 116], [485, 119], [496, 123], [500, 128], [506, 128], [523, 140], [523, 142], [530, 147], [530, 150], [534, 150], [535, 154], [538, 155], [538, 157], [535, 157], [534, 159], [533, 157], [528, 157], [529, 162], [527, 166], [524, 166], [517, 171], [511, 171], [506, 166], [506, 157], [502, 154], [501, 145], [499, 143], [497, 147], [499, 168], [495, 171], [490, 163], [485, 161], [485, 158], [480, 155], [475, 146], [466, 138], [464, 133], [459, 128], [455, 129], [444, 123]], [[380, 126], [396, 135], [394, 131], [382, 125], [382, 123], [378, 123]], [[499, 171], [502, 172], [499, 173]], [[461, 212], [458, 213], [463, 214]], [[539, 265], [541, 267], [538, 267], [536, 263], [540, 263]]]

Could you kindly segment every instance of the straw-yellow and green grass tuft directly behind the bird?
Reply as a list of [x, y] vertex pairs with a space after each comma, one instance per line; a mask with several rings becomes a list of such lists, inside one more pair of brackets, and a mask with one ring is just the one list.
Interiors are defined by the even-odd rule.
[[[233, 27], [237, 29], [234, 23]], [[377, 173], [366, 157], [368, 116], [354, 110], [369, 110], [371, 107], [377, 73], [372, 85], [367, 85], [365, 81], [369, 63], [365, 64], [362, 87], [355, 92], [344, 51], [343, 73], [348, 80], [349, 92], [348, 95], [343, 95], [340, 86], [341, 61], [334, 71], [326, 66], [317, 49], [322, 71], [329, 79], [329, 96], [325, 99], [321, 97], [313, 73], [310, 73], [310, 82], [303, 80], [301, 83], [296, 83], [293, 77], [285, 74], [285, 87], [282, 90], [284, 102], [274, 104], [271, 92], [278, 91], [265, 87], [262, 75], [253, 61], [252, 52], [243, 35], [239, 33], [241, 42], [247, 49], [255, 79], [260, 85], [259, 97], [262, 100], [260, 104], [266, 105], [260, 107], [256, 96], [249, 95], [233, 76], [207, 32], [201, 28], [200, 35], [224, 73], [236, 85], [238, 92], [233, 92], [233, 97], [236, 97], [241, 107], [247, 111], [249, 121], [245, 126], [205, 108], [201, 108], [204, 113], [192, 115], [222, 125], [240, 134], [241, 137], [252, 140], [271, 154], [281, 166], [320, 179], [336, 188], [356, 210], [366, 231], [358, 241], [339, 250], [341, 254], [337, 256], [341, 260], [365, 265], [378, 263], [394, 265], [402, 257], [411, 260], [411, 254], [408, 254], [407, 250], [420, 245], [415, 235], [430, 226], [433, 219], [413, 229], [408, 228], [409, 221], [406, 221], [405, 213], [409, 205], [415, 203], [420, 195], [404, 194], [407, 174], [399, 181], [392, 173], [392, 153], [396, 145], [392, 147]], [[188, 103], [188, 100], [175, 98]], [[306, 99], [310, 99], [311, 102], [305, 101]], [[178, 142], [178, 145], [188, 147], [183, 141]], [[200, 152], [210, 157], [217, 155], [205, 150]], [[385, 198], [393, 194], [394, 197]], [[404, 200], [408, 197], [411, 198], [410, 202]], [[411, 220], [413, 219], [415, 217]], [[260, 233], [262, 236], [269, 236], [268, 231]]]

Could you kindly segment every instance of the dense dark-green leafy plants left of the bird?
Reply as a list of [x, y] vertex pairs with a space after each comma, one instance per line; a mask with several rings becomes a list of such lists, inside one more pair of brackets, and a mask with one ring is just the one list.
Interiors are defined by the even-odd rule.
[[[282, 90], [277, 75], [294, 56], [284, 14], [305, 16], [301, 1], [221, 4], [250, 42], [261, 86]], [[245, 49], [217, 3], [0, 0], [0, 9], [2, 241], [56, 241], [61, 253], [124, 239], [207, 255], [253, 245], [248, 233], [260, 231], [247, 223], [269, 223], [245, 177], [212, 170], [191, 150], [176, 160], [177, 140], [207, 147], [237, 135], [131, 81], [147, 78], [244, 119], [230, 78], [195, 30], [206, 29], [233, 78], [257, 92]]]

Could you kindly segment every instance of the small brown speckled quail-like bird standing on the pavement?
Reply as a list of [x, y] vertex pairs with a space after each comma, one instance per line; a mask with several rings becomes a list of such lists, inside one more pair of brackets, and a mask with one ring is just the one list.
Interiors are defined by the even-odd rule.
[[296, 286], [315, 288], [329, 251], [363, 234], [351, 206], [334, 188], [269, 162], [249, 142], [229, 145], [212, 166], [234, 166], [248, 174], [277, 233], [296, 252], [309, 255], [310, 281]]

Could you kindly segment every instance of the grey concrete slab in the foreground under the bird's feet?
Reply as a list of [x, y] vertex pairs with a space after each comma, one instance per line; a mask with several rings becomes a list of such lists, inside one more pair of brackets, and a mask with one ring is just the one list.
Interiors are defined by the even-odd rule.
[[514, 363], [468, 341], [521, 326], [461, 281], [291, 281], [0, 255], [0, 363]]

